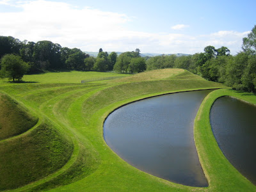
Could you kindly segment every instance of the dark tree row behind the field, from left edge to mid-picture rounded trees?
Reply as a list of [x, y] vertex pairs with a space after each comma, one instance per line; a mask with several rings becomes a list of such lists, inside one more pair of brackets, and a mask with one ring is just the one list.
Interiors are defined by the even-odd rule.
[[[80, 49], [69, 49], [51, 41], [21, 42], [12, 36], [0, 36], [0, 58], [5, 54], [15, 54], [29, 64], [29, 72], [36, 73], [50, 69], [76, 69], [111, 71], [116, 64], [118, 72], [142, 72], [145, 60], [140, 57], [140, 49], [125, 52], [116, 63], [116, 52], [104, 52], [101, 48], [97, 58], [86, 54]], [[140, 58], [140, 59], [138, 59]], [[130, 65], [131, 63], [131, 65]]]

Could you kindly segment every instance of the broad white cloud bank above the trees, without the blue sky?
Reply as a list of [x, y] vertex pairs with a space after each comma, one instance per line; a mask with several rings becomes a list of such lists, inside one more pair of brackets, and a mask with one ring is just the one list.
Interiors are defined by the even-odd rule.
[[[37, 42], [51, 40], [63, 47], [83, 51], [132, 51], [188, 53], [203, 52], [204, 47], [226, 46], [232, 54], [241, 50], [242, 38], [249, 31], [218, 31], [208, 35], [182, 33], [147, 33], [124, 28], [134, 18], [92, 8], [77, 8], [67, 3], [51, 1], [0, 1], [18, 6], [19, 12], [0, 13], [0, 35]], [[173, 26], [182, 29], [186, 25]]]

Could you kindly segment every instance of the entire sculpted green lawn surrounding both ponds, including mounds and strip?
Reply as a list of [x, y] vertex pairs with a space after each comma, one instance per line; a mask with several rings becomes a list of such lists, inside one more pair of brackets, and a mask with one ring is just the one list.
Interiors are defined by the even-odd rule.
[[[96, 81], [97, 78], [113, 76], [124, 77]], [[96, 80], [81, 83], [84, 79]], [[0, 82], [1, 95], [7, 95], [10, 104], [18, 103], [19, 114], [27, 116], [29, 122], [36, 123], [25, 126], [26, 129], [21, 132], [18, 130], [18, 135], [0, 141], [3, 154], [0, 157], [0, 191], [256, 190], [228, 163], [212, 139], [207, 110], [212, 100], [222, 92], [214, 91], [212, 93], [216, 95], [204, 100], [195, 121], [196, 148], [209, 181], [207, 188], [182, 186], [141, 172], [118, 157], [103, 139], [105, 118], [124, 104], [164, 93], [224, 88], [220, 83], [205, 81], [179, 69], [143, 72], [134, 76], [98, 72], [49, 72], [24, 76], [24, 81], [27, 83]], [[234, 94], [227, 89], [223, 92]], [[240, 96], [241, 99], [245, 97], [242, 94]], [[0, 102], [3, 101], [1, 98]], [[246, 96], [247, 100], [256, 103], [254, 98], [254, 95]], [[14, 116], [19, 120], [18, 114]], [[26, 122], [21, 124], [27, 125]], [[202, 128], [204, 126], [205, 129]], [[18, 129], [19, 126], [13, 127]], [[221, 168], [218, 162], [222, 164]]]

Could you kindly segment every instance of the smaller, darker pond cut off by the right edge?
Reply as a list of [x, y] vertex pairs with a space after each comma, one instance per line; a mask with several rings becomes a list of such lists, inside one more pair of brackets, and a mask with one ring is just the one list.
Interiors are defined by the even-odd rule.
[[256, 184], [256, 107], [220, 97], [211, 108], [212, 132], [228, 161]]

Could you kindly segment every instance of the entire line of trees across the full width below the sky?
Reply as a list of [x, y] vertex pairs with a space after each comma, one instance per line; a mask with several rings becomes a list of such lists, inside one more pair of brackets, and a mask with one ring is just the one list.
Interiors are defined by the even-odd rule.
[[[243, 38], [242, 49], [236, 56], [232, 56], [227, 47], [216, 49], [209, 45], [204, 48], [204, 52], [189, 56], [178, 57], [172, 54], [142, 58], [138, 48], [119, 56], [116, 52], [108, 54], [100, 48], [97, 58], [94, 58], [80, 49], [61, 47], [51, 41], [20, 42], [12, 36], [0, 36], [0, 76], [8, 76], [14, 81], [20, 80], [21, 74], [26, 71], [35, 73], [50, 69], [115, 70], [133, 74], [159, 68], [184, 68], [209, 81], [224, 83], [236, 90], [256, 92], [256, 26], [248, 37]], [[22, 63], [23, 67], [19, 68], [21, 73], [6, 72], [8, 67], [3, 63], [8, 62], [14, 68], [19, 68], [17, 63]]]

